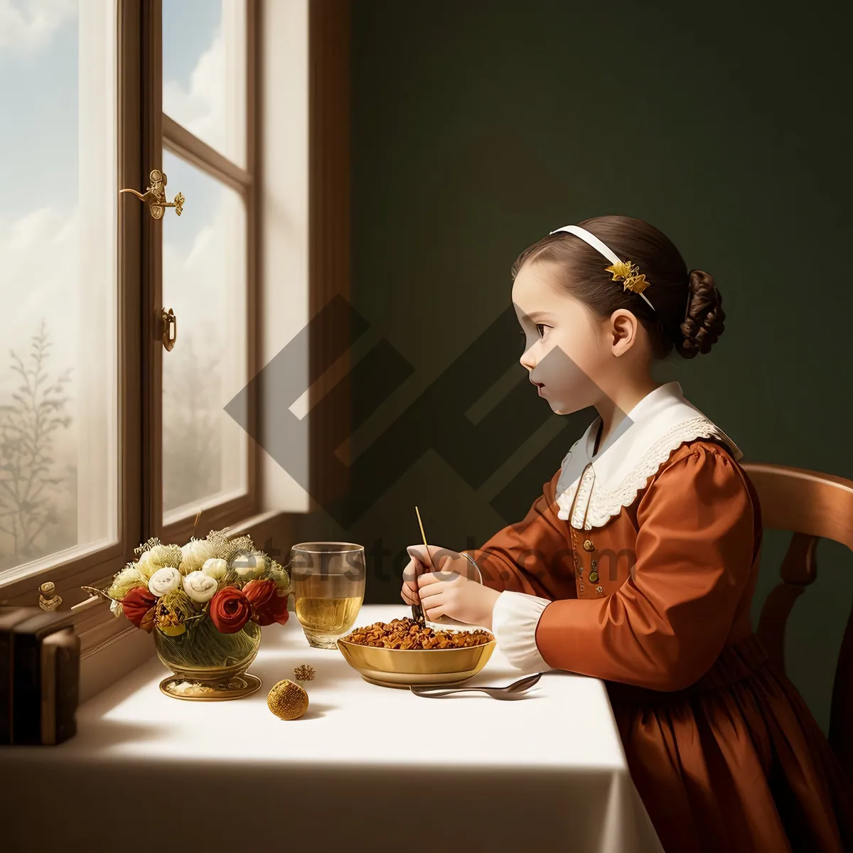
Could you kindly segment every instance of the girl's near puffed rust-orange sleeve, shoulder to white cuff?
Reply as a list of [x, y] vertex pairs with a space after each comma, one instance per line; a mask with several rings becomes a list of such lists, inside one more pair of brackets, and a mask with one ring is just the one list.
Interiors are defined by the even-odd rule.
[[722, 651], [750, 576], [746, 481], [727, 455], [699, 445], [653, 480], [637, 523], [634, 577], [600, 601], [552, 601], [537, 647], [554, 669], [679, 690]]

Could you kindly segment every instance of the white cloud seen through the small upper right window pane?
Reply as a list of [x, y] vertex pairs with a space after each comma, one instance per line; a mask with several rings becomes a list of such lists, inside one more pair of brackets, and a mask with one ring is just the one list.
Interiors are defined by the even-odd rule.
[[[0, 0], [2, 2], [2, 0]], [[163, 112], [213, 148], [228, 153], [225, 140], [225, 44], [222, 29], [199, 57], [189, 87], [177, 80], [163, 83]]]

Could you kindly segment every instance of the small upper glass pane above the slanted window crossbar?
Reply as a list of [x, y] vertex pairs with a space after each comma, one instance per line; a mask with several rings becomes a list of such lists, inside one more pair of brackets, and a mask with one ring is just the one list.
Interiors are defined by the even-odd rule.
[[246, 0], [163, 0], [163, 112], [246, 166]]

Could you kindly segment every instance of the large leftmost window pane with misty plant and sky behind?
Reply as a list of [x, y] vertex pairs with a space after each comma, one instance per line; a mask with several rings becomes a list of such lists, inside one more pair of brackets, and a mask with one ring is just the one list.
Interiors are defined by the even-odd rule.
[[3, 579], [116, 541], [116, 32], [114, 2], [0, 26]]

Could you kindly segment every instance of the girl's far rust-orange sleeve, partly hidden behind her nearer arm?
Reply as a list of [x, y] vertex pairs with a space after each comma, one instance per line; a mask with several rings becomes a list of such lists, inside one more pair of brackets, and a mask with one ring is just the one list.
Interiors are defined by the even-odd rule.
[[566, 522], [557, 518], [559, 478], [558, 471], [524, 519], [498, 531], [482, 548], [462, 552], [473, 560], [487, 587], [554, 599], [548, 578], [559, 576], [562, 563], [572, 560]]

